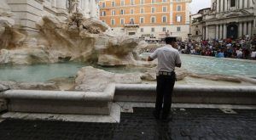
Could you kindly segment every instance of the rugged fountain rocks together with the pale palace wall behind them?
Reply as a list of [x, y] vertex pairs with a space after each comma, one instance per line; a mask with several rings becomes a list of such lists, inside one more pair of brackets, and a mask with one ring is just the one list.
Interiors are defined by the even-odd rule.
[[[51, 3], [49, 3], [51, 2]], [[96, 2], [85, 0], [26, 2], [41, 11], [32, 10], [38, 17], [27, 19], [13, 12], [12, 1], [1, 1], [0, 64], [38, 64], [62, 61], [93, 61], [104, 65], [132, 64], [131, 56], [138, 40], [118, 36], [109, 26], [96, 19]], [[9, 8], [10, 6], [10, 8]], [[6, 8], [5, 8], [6, 7]], [[53, 11], [49, 12], [49, 8]], [[90, 9], [90, 11], [88, 11]], [[51, 13], [51, 14], [50, 14]], [[43, 17], [39, 14], [44, 15]], [[19, 19], [20, 18], [20, 19]], [[33, 23], [27, 24], [28, 20]], [[20, 26], [18, 28], [18, 25]], [[113, 52], [114, 50], [114, 52]], [[107, 55], [105, 55], [107, 54]], [[103, 59], [102, 59], [103, 58]], [[109, 63], [106, 63], [106, 60]]]

